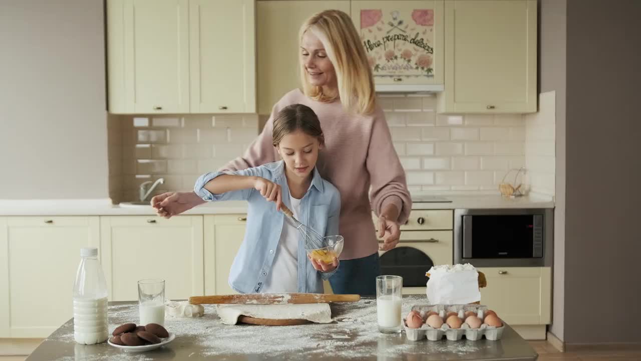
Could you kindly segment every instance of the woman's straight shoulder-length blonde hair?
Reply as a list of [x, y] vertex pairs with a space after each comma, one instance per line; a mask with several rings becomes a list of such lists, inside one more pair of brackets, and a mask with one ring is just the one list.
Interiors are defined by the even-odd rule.
[[[306, 31], [312, 31], [325, 47], [336, 72], [338, 96], [345, 109], [358, 114], [372, 113], [376, 105], [372, 69], [349, 15], [340, 10], [325, 10], [303, 23], [299, 31], [299, 42], [302, 42]], [[323, 94], [322, 87], [310, 84], [302, 62], [300, 67], [306, 96], [317, 101], [335, 100], [336, 96]]]

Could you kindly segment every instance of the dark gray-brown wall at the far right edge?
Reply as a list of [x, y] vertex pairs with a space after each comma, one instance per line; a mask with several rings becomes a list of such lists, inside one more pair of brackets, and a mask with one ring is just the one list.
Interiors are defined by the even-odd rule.
[[641, 343], [640, 13], [567, 1], [567, 345]]

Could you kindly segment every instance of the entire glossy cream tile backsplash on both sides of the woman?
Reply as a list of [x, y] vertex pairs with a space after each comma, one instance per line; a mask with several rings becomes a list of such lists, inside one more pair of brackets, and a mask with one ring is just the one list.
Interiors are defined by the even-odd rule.
[[[554, 121], [540, 113], [437, 114], [435, 96], [385, 94], [378, 104], [410, 191], [497, 192], [505, 173], [520, 166], [532, 167], [528, 181], [533, 189], [553, 189]], [[112, 152], [110, 164], [117, 157], [122, 161], [115, 161], [119, 167], [110, 166], [110, 177], [165, 177], [160, 190], [192, 189], [201, 173], [242, 155], [260, 129], [256, 114], [119, 118], [119, 127], [110, 127], [110, 134], [121, 134], [121, 154]], [[135, 195], [134, 183], [123, 182], [129, 188], [122, 194]]]

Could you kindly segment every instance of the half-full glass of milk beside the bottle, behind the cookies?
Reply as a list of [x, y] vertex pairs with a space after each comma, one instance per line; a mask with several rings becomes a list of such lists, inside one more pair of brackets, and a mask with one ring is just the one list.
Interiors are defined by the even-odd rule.
[[165, 326], [165, 280], [138, 281], [138, 312], [140, 325], [157, 323]]

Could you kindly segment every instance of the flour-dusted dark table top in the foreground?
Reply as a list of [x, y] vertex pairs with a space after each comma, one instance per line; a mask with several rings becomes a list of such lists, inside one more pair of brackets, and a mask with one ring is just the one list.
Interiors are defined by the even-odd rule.
[[[404, 296], [403, 314], [422, 295]], [[71, 360], [536, 360], [537, 353], [510, 326], [497, 341], [407, 340], [404, 333], [384, 335], [376, 330], [376, 299], [332, 304], [331, 324], [303, 326], [227, 326], [213, 306], [204, 317], [165, 319], [176, 340], [146, 353], [124, 353], [106, 343], [74, 342], [73, 320], [63, 324], [27, 358], [28, 361]], [[109, 331], [138, 321], [134, 302], [109, 306]]]

